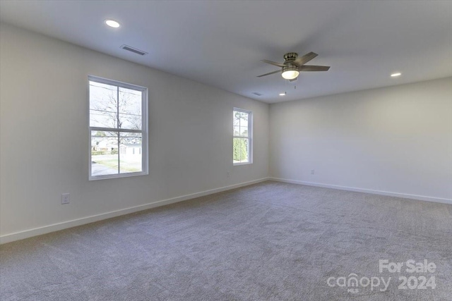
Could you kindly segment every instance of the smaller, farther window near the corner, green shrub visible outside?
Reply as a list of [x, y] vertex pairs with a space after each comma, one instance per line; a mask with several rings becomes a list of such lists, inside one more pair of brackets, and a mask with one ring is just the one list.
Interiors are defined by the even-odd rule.
[[234, 108], [234, 165], [251, 164], [252, 160], [252, 116], [250, 111]]

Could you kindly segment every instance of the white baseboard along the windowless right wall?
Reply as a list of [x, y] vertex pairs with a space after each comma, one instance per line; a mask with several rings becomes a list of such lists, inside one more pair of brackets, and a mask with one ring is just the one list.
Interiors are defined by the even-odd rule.
[[403, 197], [405, 199], [419, 199], [420, 201], [452, 204], [452, 199], [443, 199], [441, 197], [426, 197], [424, 195], [409, 195], [406, 193], [399, 193], [399, 192], [388, 192], [388, 191], [371, 190], [371, 189], [347, 187], [347, 186], [340, 186], [340, 185], [329, 185], [329, 184], [322, 184], [322, 183], [306, 182], [306, 181], [301, 181], [301, 180], [288, 180], [288, 179], [283, 179], [283, 178], [268, 178], [268, 179], [278, 181], [278, 182], [284, 182], [284, 183], [316, 186], [316, 187], [323, 187], [323, 188], [333, 188], [333, 189], [338, 189], [338, 190], [347, 190], [347, 191], [356, 191], [356, 192], [366, 192], [366, 193], [371, 193], [374, 195], [388, 195], [389, 197]]

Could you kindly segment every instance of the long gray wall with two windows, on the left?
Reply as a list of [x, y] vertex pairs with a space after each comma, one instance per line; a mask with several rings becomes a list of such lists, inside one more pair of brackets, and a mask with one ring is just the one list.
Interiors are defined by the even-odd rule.
[[[0, 30], [0, 235], [268, 176], [268, 104], [10, 25]], [[88, 75], [148, 87], [149, 176], [88, 181]], [[251, 165], [232, 166], [234, 106], [254, 114]], [[63, 192], [71, 204], [60, 204]]]

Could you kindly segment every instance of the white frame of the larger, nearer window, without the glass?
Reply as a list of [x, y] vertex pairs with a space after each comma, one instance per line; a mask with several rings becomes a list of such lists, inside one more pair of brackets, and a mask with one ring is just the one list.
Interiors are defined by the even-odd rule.
[[[102, 128], [102, 127], [94, 127], [90, 126], [90, 81], [99, 82], [106, 85], [114, 85], [117, 87], [123, 87], [126, 89], [141, 91], [141, 130], [132, 130], [132, 129], [122, 129], [122, 128]], [[117, 132], [119, 133], [141, 133], [141, 171], [134, 173], [115, 173], [109, 175], [102, 176], [92, 176], [91, 175], [91, 133], [93, 130], [98, 131], [107, 131], [107, 132]], [[126, 82], [119, 82], [117, 80], [109, 80], [107, 78], [100, 78], [94, 75], [88, 75], [88, 137], [89, 137], [89, 180], [102, 180], [109, 178], [126, 178], [131, 176], [145, 176], [149, 174], [149, 164], [148, 164], [148, 88], [141, 87], [138, 85], [128, 84]], [[119, 142], [119, 135], [118, 135]], [[119, 145], [118, 145], [118, 170], [120, 168], [119, 164]]]

